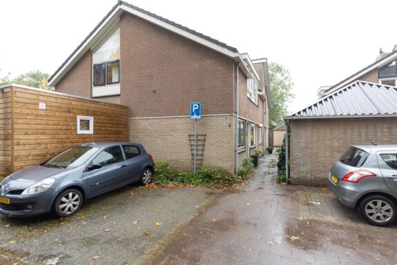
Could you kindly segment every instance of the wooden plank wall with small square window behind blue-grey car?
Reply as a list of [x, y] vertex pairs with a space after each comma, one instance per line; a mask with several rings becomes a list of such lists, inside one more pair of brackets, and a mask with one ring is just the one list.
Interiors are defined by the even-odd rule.
[[[128, 141], [128, 107], [13, 87], [13, 170], [45, 161], [75, 144]], [[39, 110], [39, 103], [46, 110]], [[94, 117], [93, 135], [77, 134], [77, 115]]]

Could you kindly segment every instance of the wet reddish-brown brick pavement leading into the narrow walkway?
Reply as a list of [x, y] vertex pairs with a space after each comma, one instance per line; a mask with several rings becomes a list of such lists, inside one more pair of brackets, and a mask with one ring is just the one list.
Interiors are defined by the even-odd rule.
[[276, 184], [276, 157], [261, 160], [151, 264], [397, 264], [396, 225], [370, 226], [326, 188]]

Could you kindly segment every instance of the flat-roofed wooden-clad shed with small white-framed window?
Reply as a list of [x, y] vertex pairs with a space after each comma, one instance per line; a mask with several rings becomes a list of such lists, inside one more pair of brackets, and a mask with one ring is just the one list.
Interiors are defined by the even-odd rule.
[[128, 141], [128, 107], [20, 85], [0, 86], [0, 178], [92, 141]]

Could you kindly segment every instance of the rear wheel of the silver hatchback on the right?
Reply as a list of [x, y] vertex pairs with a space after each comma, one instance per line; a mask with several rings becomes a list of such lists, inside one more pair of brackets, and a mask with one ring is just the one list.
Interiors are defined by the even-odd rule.
[[374, 226], [388, 226], [397, 217], [396, 204], [382, 195], [365, 197], [360, 202], [358, 211], [365, 221]]

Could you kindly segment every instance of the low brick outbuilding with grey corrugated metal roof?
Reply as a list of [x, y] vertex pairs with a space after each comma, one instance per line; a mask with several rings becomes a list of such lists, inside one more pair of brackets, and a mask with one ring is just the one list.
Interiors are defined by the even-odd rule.
[[349, 146], [397, 144], [397, 88], [355, 81], [284, 120], [291, 182], [325, 186]]

